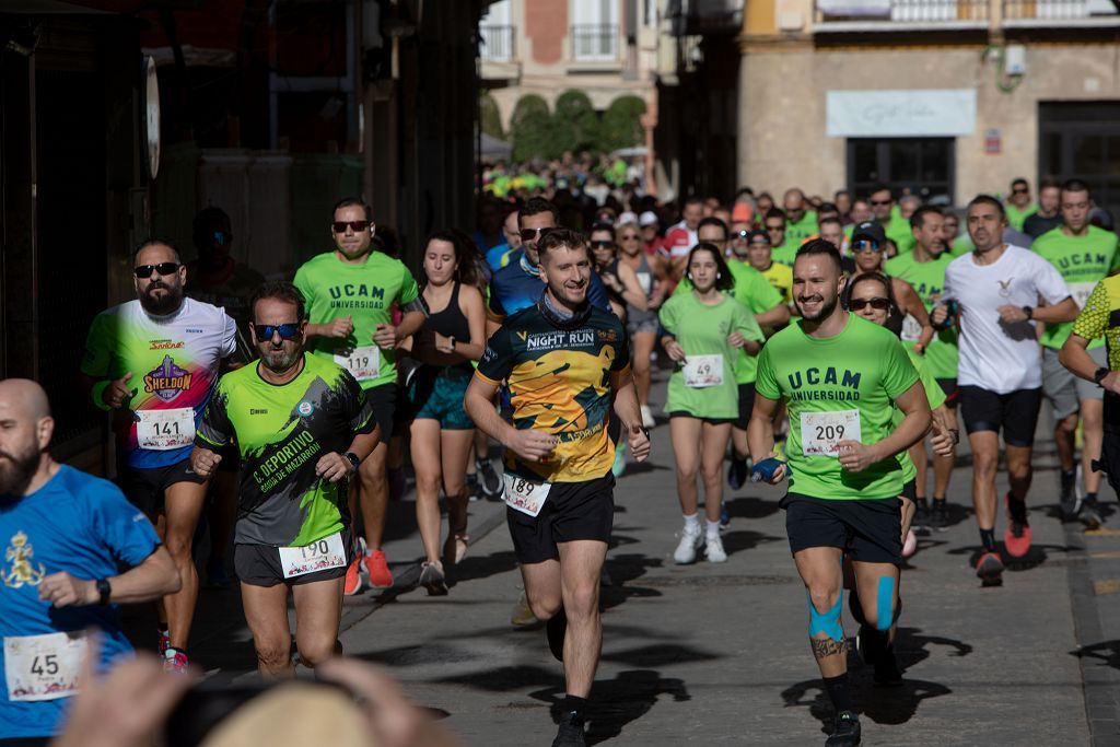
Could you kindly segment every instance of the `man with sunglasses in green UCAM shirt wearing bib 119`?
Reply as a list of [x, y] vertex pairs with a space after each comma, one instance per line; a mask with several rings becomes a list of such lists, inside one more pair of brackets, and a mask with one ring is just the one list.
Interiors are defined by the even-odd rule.
[[[361, 497], [366, 547], [346, 572], [347, 595], [362, 589], [363, 570], [374, 588], [393, 585], [381, 536], [389, 505], [385, 455], [396, 402], [395, 349], [424, 320], [412, 273], [399, 260], [372, 251], [373, 231], [365, 203], [340, 200], [330, 225], [335, 251], [309, 260], [295, 279], [307, 300], [308, 349], [351, 372], [365, 390], [381, 426], [381, 443], [362, 463], [358, 479], [351, 485], [351, 503], [355, 503], [355, 492]], [[395, 327], [394, 304], [404, 315]]]

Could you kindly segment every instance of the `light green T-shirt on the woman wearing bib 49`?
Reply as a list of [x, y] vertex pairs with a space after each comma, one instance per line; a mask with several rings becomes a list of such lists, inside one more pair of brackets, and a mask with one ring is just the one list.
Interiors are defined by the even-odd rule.
[[[684, 348], [685, 363], [690, 364], [678, 363], [669, 377], [665, 410], [688, 412], [694, 418], [736, 418], [739, 392], [735, 373], [740, 356], [750, 356], [731, 347], [727, 337], [738, 332], [747, 339], [763, 342], [754, 315], [726, 295], [719, 304], [709, 306], [690, 291], [674, 293], [661, 307], [659, 317], [661, 326]], [[701, 355], [719, 357], [694, 357]], [[716, 379], [719, 383], [712, 383]]]

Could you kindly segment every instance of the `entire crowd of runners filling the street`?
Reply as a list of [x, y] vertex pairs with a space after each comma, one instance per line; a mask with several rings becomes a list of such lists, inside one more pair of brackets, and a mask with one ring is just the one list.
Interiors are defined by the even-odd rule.
[[[298, 662], [329, 675], [344, 596], [394, 583], [382, 540], [407, 464], [429, 595], [454, 594], [469, 501], [507, 504], [524, 585], [512, 619], [543, 623], [563, 665], [554, 747], [585, 744], [616, 480], [659, 423], [675, 563], [727, 560], [726, 491], [785, 486], [836, 709], [828, 745], [860, 740], [849, 641], [878, 684], [900, 682], [900, 567], [917, 534], [946, 526], [961, 429], [982, 585], [1030, 551], [1044, 401], [1063, 519], [1102, 523], [1101, 479], [1120, 477], [1120, 251], [1085, 183], [1044, 181], [1036, 203], [1017, 179], [959, 211], [885, 186], [831, 202], [744, 189], [679, 215], [632, 189], [503, 194], [473, 235], [414, 248], [416, 274], [356, 198], [323, 216], [334, 248], [290, 280], [237, 262], [217, 207], [195, 218], [197, 259], [143, 242], [136, 299], [93, 319], [76, 366], [112, 419], [115, 485], [52, 460], [49, 392], [0, 382], [0, 744], [57, 734], [90, 657], [108, 666], [134, 644], [186, 673], [199, 586], [231, 576], [261, 674], [296, 673], [295, 639]], [[141, 601], [158, 629], [130, 644], [116, 605]]]

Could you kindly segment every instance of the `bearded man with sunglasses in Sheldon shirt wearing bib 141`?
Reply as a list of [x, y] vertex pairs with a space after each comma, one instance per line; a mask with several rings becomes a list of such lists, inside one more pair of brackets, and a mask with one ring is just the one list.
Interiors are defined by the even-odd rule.
[[207, 483], [190, 469], [190, 446], [237, 328], [224, 310], [184, 296], [187, 270], [170, 243], [140, 244], [133, 274], [137, 300], [94, 318], [81, 368], [94, 404], [114, 413], [118, 483], [183, 578], [160, 605], [159, 651], [168, 671], [185, 672], [198, 599], [190, 550]]

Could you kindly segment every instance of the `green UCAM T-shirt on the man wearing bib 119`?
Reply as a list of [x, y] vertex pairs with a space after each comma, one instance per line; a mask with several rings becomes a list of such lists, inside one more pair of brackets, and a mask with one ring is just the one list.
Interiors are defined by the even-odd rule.
[[311, 324], [352, 317], [354, 332], [346, 339], [315, 337], [308, 349], [349, 370], [362, 389], [396, 381], [396, 352], [377, 347], [377, 325], [392, 323], [393, 304], [417, 300], [420, 291], [400, 260], [370, 252], [361, 264], [349, 264], [327, 252], [308, 260], [293, 281], [304, 293]]

